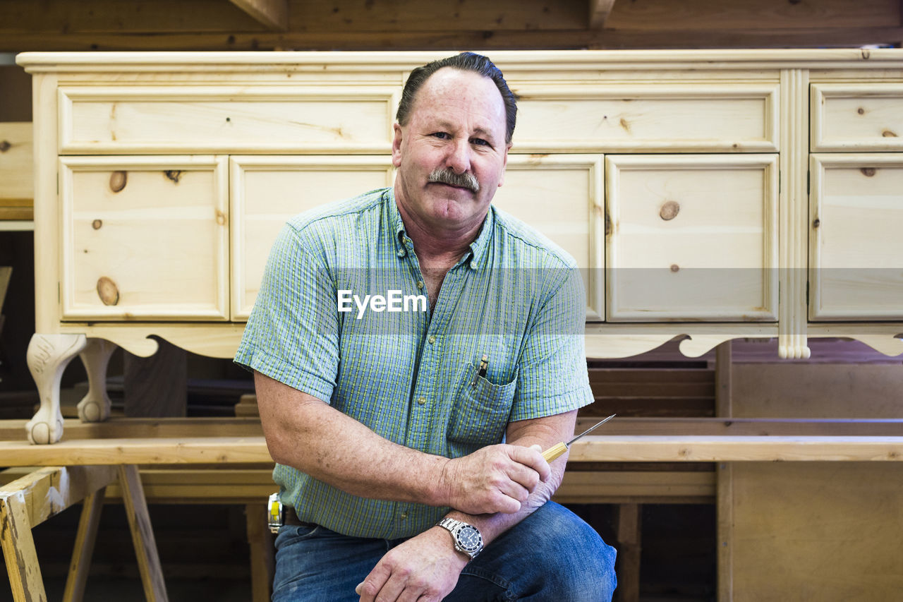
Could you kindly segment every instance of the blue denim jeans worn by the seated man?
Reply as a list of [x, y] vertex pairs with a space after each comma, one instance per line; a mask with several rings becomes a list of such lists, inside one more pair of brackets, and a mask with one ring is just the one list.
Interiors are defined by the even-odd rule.
[[[357, 602], [354, 588], [402, 541], [348, 537], [318, 525], [284, 526], [275, 541], [273, 602]], [[548, 502], [471, 561], [445, 600], [610, 600], [616, 554], [590, 525]]]

